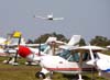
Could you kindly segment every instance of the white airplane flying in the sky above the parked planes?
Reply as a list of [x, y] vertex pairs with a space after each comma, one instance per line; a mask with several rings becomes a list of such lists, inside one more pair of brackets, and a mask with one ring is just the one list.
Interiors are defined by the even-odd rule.
[[52, 14], [47, 14], [46, 16], [34, 15], [34, 18], [38, 18], [38, 19], [43, 19], [43, 20], [48, 20], [48, 21], [64, 20], [64, 18], [54, 18], [53, 13]]

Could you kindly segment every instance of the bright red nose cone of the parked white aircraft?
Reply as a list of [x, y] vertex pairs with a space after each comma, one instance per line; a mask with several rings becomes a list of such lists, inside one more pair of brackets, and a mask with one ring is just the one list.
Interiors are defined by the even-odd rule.
[[18, 49], [18, 54], [21, 56], [21, 57], [28, 57], [29, 55], [31, 55], [31, 50], [29, 47], [25, 47], [25, 46], [19, 46], [19, 49]]

